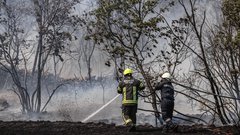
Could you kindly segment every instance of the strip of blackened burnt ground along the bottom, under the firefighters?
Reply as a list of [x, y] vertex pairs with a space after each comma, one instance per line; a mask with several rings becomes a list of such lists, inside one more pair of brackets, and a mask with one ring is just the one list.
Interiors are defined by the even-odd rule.
[[161, 127], [139, 125], [135, 132], [126, 126], [67, 121], [0, 121], [0, 135], [240, 135], [240, 126], [179, 125], [170, 133]]

